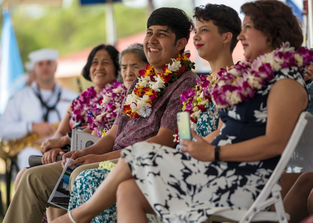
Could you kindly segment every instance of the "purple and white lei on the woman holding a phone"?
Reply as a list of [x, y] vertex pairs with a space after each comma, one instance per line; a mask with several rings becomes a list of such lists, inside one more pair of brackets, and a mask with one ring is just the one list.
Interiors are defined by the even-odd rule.
[[230, 108], [240, 102], [247, 102], [254, 97], [265, 82], [273, 79], [273, 73], [284, 67], [299, 67], [304, 73], [305, 66], [310, 65], [313, 52], [305, 47], [296, 51], [290, 43], [283, 43], [270, 53], [257, 57], [254, 61], [247, 59], [238, 62], [228, 70], [221, 69], [218, 81], [211, 87], [213, 103], [218, 108]]

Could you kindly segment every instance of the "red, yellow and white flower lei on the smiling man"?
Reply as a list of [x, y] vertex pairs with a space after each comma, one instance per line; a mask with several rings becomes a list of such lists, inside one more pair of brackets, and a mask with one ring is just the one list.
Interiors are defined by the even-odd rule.
[[154, 67], [147, 65], [139, 71], [140, 80], [126, 97], [123, 113], [130, 118], [146, 118], [151, 115], [152, 105], [163, 95], [168, 83], [176, 81], [182, 73], [194, 69], [194, 62], [189, 60], [190, 53], [178, 53], [172, 64], [163, 66], [163, 73], [155, 73]]

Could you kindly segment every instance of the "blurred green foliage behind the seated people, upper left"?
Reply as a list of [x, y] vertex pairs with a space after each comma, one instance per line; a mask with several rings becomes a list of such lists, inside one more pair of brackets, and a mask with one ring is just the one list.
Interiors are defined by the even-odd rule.
[[[39, 8], [38, 16], [36, 10], [30, 12], [29, 6], [10, 7], [23, 62], [28, 60], [29, 52], [40, 48], [55, 48], [65, 55], [104, 43], [105, 7], [106, 4], [81, 6], [75, 0], [67, 8]], [[115, 3], [114, 15], [118, 39], [146, 30], [146, 8]], [[0, 24], [3, 24], [2, 15]]]

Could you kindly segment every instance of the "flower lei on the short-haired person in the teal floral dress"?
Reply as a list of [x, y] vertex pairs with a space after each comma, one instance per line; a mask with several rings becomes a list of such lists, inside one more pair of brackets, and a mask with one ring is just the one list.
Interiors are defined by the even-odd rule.
[[[190, 114], [191, 128], [195, 129], [195, 123], [197, 123], [198, 117], [201, 113], [207, 111], [206, 108], [209, 102], [212, 102], [209, 89], [216, 82], [211, 81], [212, 76], [200, 76], [200, 81], [197, 79], [197, 85], [189, 89], [188, 91], [182, 92], [180, 104], [182, 105], [182, 111], [188, 111]], [[175, 131], [174, 142], [179, 144], [178, 129]]]

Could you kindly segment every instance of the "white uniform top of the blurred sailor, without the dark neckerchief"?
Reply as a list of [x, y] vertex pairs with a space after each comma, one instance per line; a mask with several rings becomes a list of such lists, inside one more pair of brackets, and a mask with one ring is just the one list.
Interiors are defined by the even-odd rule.
[[[3, 140], [19, 139], [27, 135], [28, 124], [42, 122], [45, 108], [42, 107], [40, 100], [35, 94], [34, 89], [36, 83], [31, 87], [25, 87], [23, 90], [15, 93], [0, 117], [0, 137]], [[56, 89], [61, 87], [56, 84]], [[57, 94], [52, 94], [52, 91], [41, 90], [42, 98], [47, 105], [52, 106], [57, 100]], [[55, 91], [58, 92], [58, 91]], [[61, 118], [69, 106], [69, 103], [77, 97], [77, 93], [62, 88], [59, 102], [56, 110], [61, 114]], [[49, 113], [48, 122], [57, 123], [59, 120], [58, 113], [51, 111]]]

